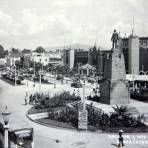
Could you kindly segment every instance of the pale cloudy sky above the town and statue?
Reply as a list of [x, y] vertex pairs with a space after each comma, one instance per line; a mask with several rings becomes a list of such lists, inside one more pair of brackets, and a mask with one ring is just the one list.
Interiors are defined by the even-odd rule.
[[111, 48], [114, 29], [148, 36], [148, 0], [0, 0], [0, 44], [35, 49], [74, 43]]

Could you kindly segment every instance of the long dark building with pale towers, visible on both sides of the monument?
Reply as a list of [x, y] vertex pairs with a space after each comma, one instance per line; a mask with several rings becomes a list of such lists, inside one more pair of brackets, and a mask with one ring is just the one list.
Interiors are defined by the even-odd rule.
[[[131, 34], [128, 38], [122, 38], [121, 45], [126, 74], [148, 74], [148, 37], [138, 37]], [[88, 51], [67, 49], [64, 50], [64, 64], [70, 68], [89, 64], [96, 68], [98, 75], [104, 73], [104, 62], [111, 54], [111, 50], [97, 48], [96, 45]]]

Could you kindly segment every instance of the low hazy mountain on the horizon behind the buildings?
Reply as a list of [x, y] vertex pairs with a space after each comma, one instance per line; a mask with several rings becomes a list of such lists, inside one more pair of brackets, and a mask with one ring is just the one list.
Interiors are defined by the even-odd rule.
[[59, 46], [59, 47], [47, 47], [45, 48], [46, 51], [51, 51], [51, 50], [56, 50], [56, 49], [68, 49], [68, 48], [71, 48], [71, 49], [84, 49], [84, 50], [88, 50], [91, 46], [90, 45], [84, 45], [84, 44], [80, 44], [80, 43], [77, 43], [77, 44], [72, 44], [72, 45], [66, 45], [66, 46]]

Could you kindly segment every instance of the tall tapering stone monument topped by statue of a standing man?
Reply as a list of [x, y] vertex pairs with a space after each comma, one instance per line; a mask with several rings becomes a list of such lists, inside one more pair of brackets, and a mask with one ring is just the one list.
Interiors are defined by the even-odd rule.
[[100, 101], [105, 104], [129, 103], [128, 81], [120, 45], [121, 40], [118, 38], [117, 43], [113, 43], [113, 48], [105, 59], [104, 80], [100, 84]]

